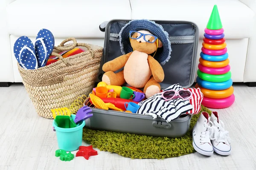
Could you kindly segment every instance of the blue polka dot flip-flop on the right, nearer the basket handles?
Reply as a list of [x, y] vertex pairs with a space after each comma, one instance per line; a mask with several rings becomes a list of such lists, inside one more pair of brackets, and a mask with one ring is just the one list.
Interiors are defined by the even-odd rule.
[[35, 54], [38, 59], [38, 68], [44, 67], [54, 48], [54, 37], [51, 31], [41, 29], [35, 40]]

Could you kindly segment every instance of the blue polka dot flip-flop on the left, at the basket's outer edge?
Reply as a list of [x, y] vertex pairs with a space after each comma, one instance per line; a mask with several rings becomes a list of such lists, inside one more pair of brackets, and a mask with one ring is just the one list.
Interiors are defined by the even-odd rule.
[[13, 51], [21, 67], [29, 70], [38, 68], [35, 48], [29, 37], [22, 36], [18, 38], [14, 44]]

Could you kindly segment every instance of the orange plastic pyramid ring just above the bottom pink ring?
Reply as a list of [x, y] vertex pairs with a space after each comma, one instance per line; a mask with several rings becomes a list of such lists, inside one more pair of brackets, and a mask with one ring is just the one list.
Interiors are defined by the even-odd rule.
[[215, 91], [215, 90], [202, 88], [196, 83], [195, 88], [200, 88], [201, 92], [204, 94], [204, 97], [208, 97], [211, 99], [224, 99], [231, 96], [234, 93], [233, 86], [225, 90]]

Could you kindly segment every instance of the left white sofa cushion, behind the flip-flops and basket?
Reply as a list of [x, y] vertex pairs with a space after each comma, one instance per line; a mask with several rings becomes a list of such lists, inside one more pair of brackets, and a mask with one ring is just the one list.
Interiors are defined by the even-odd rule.
[[15, 0], [7, 6], [9, 34], [35, 36], [41, 28], [54, 37], [99, 38], [99, 25], [131, 19], [129, 0]]

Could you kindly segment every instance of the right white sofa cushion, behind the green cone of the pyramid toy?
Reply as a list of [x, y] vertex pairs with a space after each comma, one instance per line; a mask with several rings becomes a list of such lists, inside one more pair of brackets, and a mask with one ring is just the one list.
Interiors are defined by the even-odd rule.
[[239, 0], [130, 0], [132, 19], [191, 21], [204, 36], [212, 8], [216, 4], [225, 38], [247, 38], [253, 29], [254, 12]]

